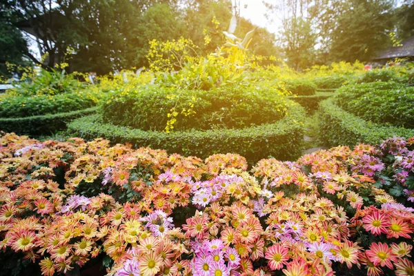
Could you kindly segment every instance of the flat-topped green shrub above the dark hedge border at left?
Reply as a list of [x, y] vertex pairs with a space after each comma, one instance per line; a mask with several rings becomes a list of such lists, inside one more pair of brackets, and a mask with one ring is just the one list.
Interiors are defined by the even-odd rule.
[[99, 94], [87, 91], [0, 99], [0, 118], [19, 118], [83, 110], [95, 106]]

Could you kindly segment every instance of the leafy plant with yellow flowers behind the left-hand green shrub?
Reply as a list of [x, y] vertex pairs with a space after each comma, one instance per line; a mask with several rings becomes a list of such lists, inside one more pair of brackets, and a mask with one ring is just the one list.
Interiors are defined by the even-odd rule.
[[58, 95], [79, 90], [82, 83], [75, 79], [75, 75], [66, 74], [65, 70], [44, 70], [32, 72], [26, 81], [18, 83], [8, 92], [17, 96]]

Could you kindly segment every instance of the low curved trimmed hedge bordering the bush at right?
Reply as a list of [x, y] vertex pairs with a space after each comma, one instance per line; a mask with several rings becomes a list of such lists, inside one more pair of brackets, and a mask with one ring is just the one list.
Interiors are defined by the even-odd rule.
[[359, 142], [379, 144], [393, 136], [413, 137], [414, 130], [365, 121], [335, 104], [335, 99], [319, 103], [319, 139], [326, 146], [355, 146]]

